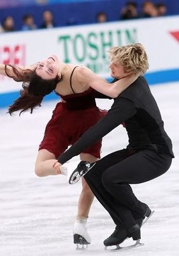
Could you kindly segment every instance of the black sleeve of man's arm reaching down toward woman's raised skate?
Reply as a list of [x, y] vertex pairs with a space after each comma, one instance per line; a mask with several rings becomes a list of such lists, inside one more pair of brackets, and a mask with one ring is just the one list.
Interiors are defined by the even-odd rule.
[[74, 145], [59, 156], [59, 163], [64, 164], [72, 157], [78, 156], [85, 148], [88, 148], [97, 140], [103, 138], [106, 134], [115, 129], [115, 127], [135, 115], [135, 113], [136, 109], [131, 100], [118, 97], [114, 100], [106, 116], [99, 120], [97, 124], [90, 127]]

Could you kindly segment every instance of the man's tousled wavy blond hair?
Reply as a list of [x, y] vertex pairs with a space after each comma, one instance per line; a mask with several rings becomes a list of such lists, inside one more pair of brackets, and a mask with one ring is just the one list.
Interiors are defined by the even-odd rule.
[[139, 43], [111, 47], [108, 52], [110, 61], [122, 65], [126, 73], [143, 75], [149, 67], [147, 53]]

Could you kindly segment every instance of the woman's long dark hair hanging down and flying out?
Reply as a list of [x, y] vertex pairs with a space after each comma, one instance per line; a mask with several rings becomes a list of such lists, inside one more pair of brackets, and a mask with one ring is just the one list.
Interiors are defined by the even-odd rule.
[[41, 106], [43, 97], [55, 90], [57, 83], [59, 83], [58, 76], [54, 79], [45, 80], [36, 74], [36, 70], [31, 71], [28, 79], [22, 83], [20, 97], [9, 106], [8, 113], [11, 115], [13, 112], [21, 110], [21, 114], [29, 109], [32, 113], [34, 108]]

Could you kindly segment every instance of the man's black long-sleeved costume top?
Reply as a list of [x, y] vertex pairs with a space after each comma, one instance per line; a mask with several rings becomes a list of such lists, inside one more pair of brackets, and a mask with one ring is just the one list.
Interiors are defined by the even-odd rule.
[[125, 123], [129, 137], [127, 148], [150, 149], [174, 157], [171, 140], [164, 131], [161, 113], [144, 77], [138, 77], [114, 99], [111, 109], [96, 125], [85, 132], [66, 152], [59, 156], [64, 164], [118, 125]]

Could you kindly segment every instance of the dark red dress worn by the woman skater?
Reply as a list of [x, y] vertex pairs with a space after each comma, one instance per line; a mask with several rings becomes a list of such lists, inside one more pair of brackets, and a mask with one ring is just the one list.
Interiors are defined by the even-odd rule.
[[[39, 150], [45, 148], [55, 157], [59, 157], [69, 145], [73, 145], [85, 131], [106, 115], [106, 110], [97, 108], [92, 88], [83, 93], [60, 96], [66, 102], [59, 102], [55, 107], [39, 145]], [[83, 153], [100, 158], [101, 143], [102, 140], [97, 141]]]

